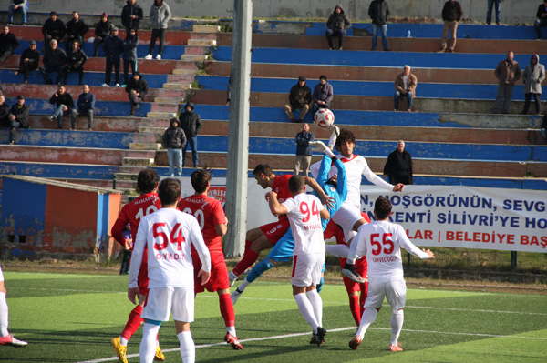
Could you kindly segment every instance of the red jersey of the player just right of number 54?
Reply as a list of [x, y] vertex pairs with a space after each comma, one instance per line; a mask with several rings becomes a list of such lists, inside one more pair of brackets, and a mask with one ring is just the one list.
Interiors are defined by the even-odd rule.
[[182, 212], [196, 217], [209, 250], [222, 252], [222, 237], [217, 234], [215, 226], [228, 223], [228, 219], [221, 202], [205, 195], [194, 195], [182, 198], [178, 207]]

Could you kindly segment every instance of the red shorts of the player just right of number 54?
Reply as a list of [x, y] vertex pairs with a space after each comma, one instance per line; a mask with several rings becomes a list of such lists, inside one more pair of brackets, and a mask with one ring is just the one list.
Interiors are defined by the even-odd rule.
[[228, 267], [224, 260], [222, 251], [211, 252], [211, 277], [205, 285], [201, 285], [201, 279], [197, 276], [201, 270], [201, 259], [197, 252], [191, 254], [191, 260], [194, 266], [194, 292], [196, 294], [205, 291], [214, 292], [230, 288], [230, 280], [228, 279]]

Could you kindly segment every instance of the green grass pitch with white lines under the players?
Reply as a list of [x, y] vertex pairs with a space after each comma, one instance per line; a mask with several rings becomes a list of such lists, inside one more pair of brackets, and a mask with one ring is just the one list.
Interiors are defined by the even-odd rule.
[[[116, 362], [110, 346], [132, 308], [128, 277], [5, 272], [10, 332], [26, 348], [0, 348], [0, 362]], [[235, 306], [244, 350], [222, 343], [216, 294], [196, 298], [191, 325], [198, 362], [542, 362], [547, 361], [547, 297], [409, 289], [399, 338], [404, 352], [387, 351], [388, 306], [361, 346], [347, 347], [356, 327], [346, 289], [326, 285], [325, 345], [308, 344], [310, 328], [286, 282], [255, 282]], [[139, 362], [141, 329], [129, 341], [129, 362]], [[167, 362], [181, 362], [172, 321], [160, 329]]]

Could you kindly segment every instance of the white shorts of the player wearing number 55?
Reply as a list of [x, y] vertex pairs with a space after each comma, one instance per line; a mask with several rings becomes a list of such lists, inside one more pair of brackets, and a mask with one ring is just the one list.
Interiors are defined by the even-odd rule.
[[391, 306], [393, 312], [399, 308], [405, 308], [407, 301], [407, 283], [404, 278], [375, 284], [368, 283], [368, 295], [366, 296], [365, 308], [381, 308], [384, 297]]

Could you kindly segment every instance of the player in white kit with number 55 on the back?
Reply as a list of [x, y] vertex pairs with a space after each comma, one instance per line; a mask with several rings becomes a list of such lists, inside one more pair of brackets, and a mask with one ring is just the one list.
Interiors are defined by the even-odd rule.
[[356, 349], [363, 341], [366, 328], [377, 318], [384, 297], [391, 306], [391, 341], [388, 350], [402, 351], [398, 337], [403, 328], [403, 308], [407, 299], [407, 285], [403, 274], [401, 248], [414, 256], [435, 258], [430, 250], [419, 249], [407, 237], [403, 227], [389, 222], [391, 202], [378, 197], [374, 205], [375, 222], [359, 227], [351, 244], [347, 263], [353, 264], [357, 257], [366, 256], [368, 262], [368, 297], [356, 336], [349, 348]]

